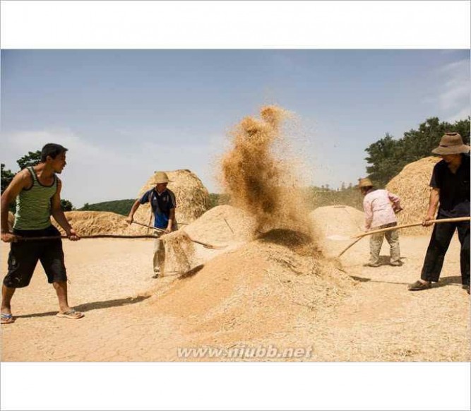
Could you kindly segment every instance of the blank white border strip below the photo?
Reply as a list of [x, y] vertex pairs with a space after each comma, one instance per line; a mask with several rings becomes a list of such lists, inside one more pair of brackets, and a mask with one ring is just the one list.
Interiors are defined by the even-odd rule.
[[1, 364], [1, 410], [470, 410], [469, 363]]

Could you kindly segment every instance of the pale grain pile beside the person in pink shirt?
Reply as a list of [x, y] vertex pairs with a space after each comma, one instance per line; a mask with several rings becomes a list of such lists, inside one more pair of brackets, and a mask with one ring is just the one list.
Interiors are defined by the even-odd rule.
[[[327, 257], [337, 256], [349, 243], [349, 237], [364, 227], [364, 213], [348, 205], [319, 207], [309, 213], [309, 218], [314, 242]], [[345, 237], [345, 241], [330, 239], [335, 236]]]

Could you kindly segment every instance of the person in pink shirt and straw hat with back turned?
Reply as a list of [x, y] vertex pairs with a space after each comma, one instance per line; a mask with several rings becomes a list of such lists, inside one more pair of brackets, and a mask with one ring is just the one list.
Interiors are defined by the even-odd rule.
[[[370, 179], [359, 179], [358, 186], [364, 196], [365, 231], [381, 230], [382, 228], [398, 225], [395, 214], [402, 210], [398, 196], [387, 190], [374, 189]], [[380, 232], [378, 234], [372, 234], [369, 237], [370, 258], [366, 266], [380, 266], [379, 252], [381, 251], [384, 237], [386, 237], [390, 246], [390, 265], [402, 266], [402, 262], [400, 261], [398, 230]]]

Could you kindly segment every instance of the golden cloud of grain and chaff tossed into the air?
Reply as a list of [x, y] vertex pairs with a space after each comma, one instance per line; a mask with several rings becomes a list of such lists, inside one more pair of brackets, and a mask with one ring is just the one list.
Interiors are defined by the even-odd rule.
[[287, 116], [284, 109], [267, 106], [261, 109], [261, 120], [245, 117], [230, 133], [232, 149], [221, 160], [222, 186], [236, 207], [254, 216], [254, 234], [309, 227], [293, 167], [275, 156]]

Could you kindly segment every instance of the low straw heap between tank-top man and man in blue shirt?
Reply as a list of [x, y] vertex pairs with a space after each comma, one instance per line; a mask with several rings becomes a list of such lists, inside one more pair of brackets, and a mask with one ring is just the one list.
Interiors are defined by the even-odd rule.
[[[123, 234], [129, 227], [123, 215], [105, 211], [66, 211], [66, 219], [79, 235]], [[52, 218], [52, 223], [64, 230]]]

